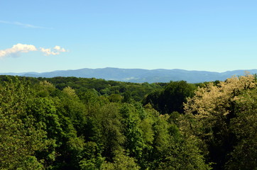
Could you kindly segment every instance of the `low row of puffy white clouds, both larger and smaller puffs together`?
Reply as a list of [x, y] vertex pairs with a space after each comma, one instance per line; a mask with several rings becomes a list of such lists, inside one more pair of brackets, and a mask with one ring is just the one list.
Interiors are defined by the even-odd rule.
[[40, 50], [38, 50], [37, 47], [34, 45], [26, 45], [18, 43], [16, 45], [13, 45], [11, 48], [7, 48], [5, 50], [0, 50], [0, 58], [2, 57], [18, 57], [21, 55], [21, 53], [26, 52], [33, 52], [33, 51], [40, 51], [43, 52], [44, 55], [60, 55], [60, 52], [67, 52], [65, 48], [60, 47], [56, 45], [53, 47], [53, 50], [51, 48], [43, 48], [39, 47]]

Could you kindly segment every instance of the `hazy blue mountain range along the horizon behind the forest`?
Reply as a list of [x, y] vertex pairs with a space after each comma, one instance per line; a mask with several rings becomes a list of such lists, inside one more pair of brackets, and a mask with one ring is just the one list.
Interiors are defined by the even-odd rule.
[[187, 71], [184, 69], [75, 69], [62, 70], [55, 72], [27, 72], [27, 73], [0, 73], [1, 75], [18, 75], [24, 77], [83, 77], [97, 78], [114, 81], [128, 81], [136, 83], [153, 83], [185, 80], [189, 83], [199, 83], [204, 81], [224, 81], [232, 76], [241, 76], [245, 72], [257, 74], [257, 69], [234, 70], [229, 72], [205, 72], [205, 71]]

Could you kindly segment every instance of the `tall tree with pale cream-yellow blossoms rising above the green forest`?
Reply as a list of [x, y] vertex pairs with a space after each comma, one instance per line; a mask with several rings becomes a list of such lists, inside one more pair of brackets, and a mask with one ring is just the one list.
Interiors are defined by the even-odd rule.
[[202, 146], [207, 146], [215, 169], [224, 169], [236, 145], [236, 133], [231, 130], [232, 120], [239, 118], [236, 102], [241, 94], [254, 88], [256, 81], [252, 75], [232, 77], [216, 86], [210, 83], [198, 88], [185, 104], [185, 113], [190, 119], [184, 121], [187, 128], [182, 128], [192, 130], [192, 134], [203, 141]]

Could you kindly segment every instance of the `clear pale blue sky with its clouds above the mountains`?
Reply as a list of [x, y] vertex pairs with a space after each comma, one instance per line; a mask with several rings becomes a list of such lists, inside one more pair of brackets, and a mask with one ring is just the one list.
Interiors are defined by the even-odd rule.
[[0, 0], [0, 72], [257, 69], [256, 8], [256, 0]]

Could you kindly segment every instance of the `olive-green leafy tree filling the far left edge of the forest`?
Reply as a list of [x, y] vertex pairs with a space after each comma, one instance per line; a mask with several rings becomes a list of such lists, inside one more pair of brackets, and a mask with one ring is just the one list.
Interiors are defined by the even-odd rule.
[[[45, 132], [26, 115], [33, 91], [16, 77], [0, 86], [0, 168], [43, 169], [35, 152], [45, 149]], [[42, 160], [43, 161], [43, 160]]]

